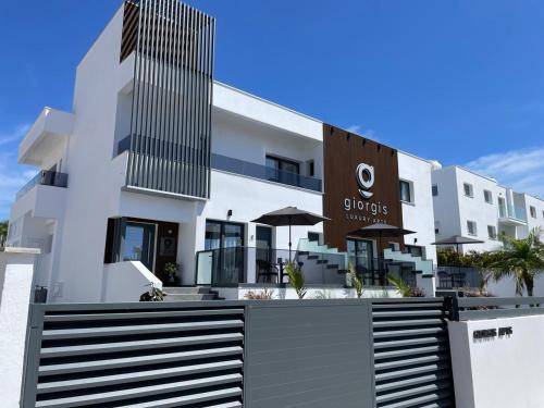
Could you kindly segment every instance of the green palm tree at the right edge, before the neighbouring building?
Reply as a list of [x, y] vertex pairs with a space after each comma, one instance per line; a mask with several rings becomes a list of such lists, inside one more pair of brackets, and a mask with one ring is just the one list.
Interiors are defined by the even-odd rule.
[[544, 273], [544, 244], [540, 240], [541, 228], [534, 228], [524, 239], [503, 235], [505, 248], [494, 252], [487, 264], [495, 281], [514, 277], [516, 295], [523, 296], [527, 289], [533, 296], [534, 279]]

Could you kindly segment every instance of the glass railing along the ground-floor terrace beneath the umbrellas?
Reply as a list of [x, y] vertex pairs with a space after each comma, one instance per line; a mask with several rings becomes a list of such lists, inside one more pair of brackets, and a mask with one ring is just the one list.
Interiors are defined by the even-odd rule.
[[285, 284], [286, 263], [292, 260], [305, 275], [307, 285], [349, 287], [349, 264], [366, 286], [390, 286], [388, 277], [401, 277], [416, 285], [415, 263], [388, 259], [348, 257], [346, 254], [232, 247], [197, 252], [197, 284], [237, 286], [239, 284]]

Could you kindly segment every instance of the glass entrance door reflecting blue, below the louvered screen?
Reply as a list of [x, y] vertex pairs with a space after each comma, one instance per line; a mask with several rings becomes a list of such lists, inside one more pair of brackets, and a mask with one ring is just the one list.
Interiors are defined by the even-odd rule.
[[123, 246], [124, 261], [140, 261], [153, 272], [156, 224], [128, 221]]

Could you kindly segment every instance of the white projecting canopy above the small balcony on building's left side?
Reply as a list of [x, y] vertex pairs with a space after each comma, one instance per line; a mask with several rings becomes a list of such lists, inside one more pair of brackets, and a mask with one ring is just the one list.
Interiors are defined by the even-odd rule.
[[73, 126], [73, 113], [45, 108], [18, 146], [18, 162], [42, 166], [45, 158], [62, 157]]

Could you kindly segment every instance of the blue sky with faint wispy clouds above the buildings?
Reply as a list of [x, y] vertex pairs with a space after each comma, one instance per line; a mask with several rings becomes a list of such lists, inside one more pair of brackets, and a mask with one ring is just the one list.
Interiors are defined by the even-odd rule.
[[[544, 197], [544, 2], [191, 0], [218, 18], [217, 79]], [[16, 147], [121, 1], [0, 13], [0, 219], [35, 172]]]

